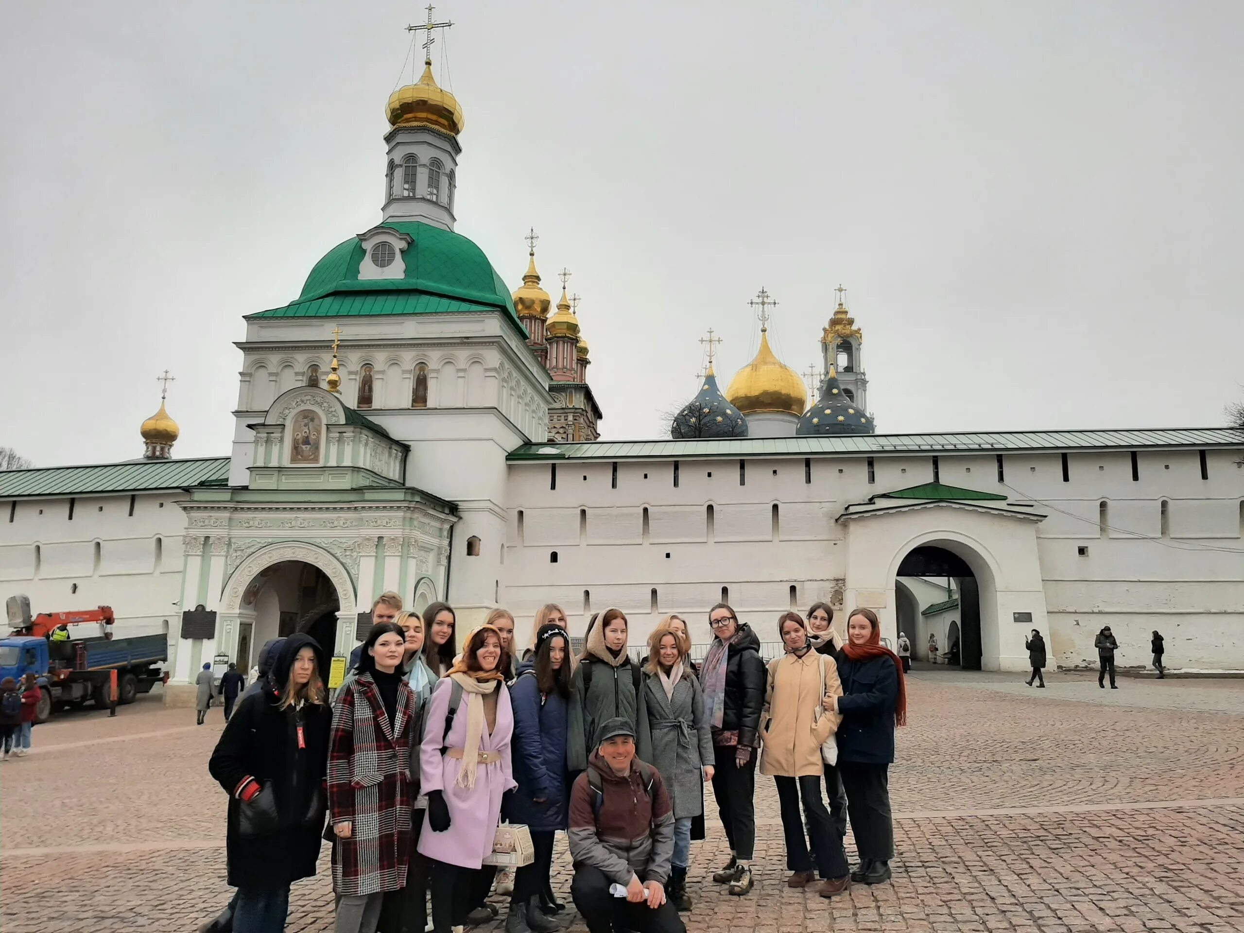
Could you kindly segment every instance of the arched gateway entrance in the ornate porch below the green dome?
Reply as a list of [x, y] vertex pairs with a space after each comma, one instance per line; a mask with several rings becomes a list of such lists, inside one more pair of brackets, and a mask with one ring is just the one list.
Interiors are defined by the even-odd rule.
[[[327, 663], [337, 653], [338, 621], [353, 616], [350, 575], [310, 545], [274, 545], [251, 555], [230, 576], [221, 603], [226, 652], [241, 671], [258, 662], [266, 641], [295, 632], [315, 638]], [[320, 673], [327, 679], [327, 671]]]

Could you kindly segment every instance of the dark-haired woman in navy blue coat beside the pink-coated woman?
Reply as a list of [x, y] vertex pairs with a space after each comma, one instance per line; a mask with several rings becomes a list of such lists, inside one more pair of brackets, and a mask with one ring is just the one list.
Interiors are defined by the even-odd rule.
[[506, 933], [552, 933], [561, 927], [540, 908], [542, 902], [549, 913], [555, 912], [552, 843], [557, 830], [566, 829], [570, 809], [566, 771], [570, 679], [570, 636], [556, 624], [541, 626], [535, 654], [519, 666], [519, 677], [510, 688], [511, 758], [519, 786], [505, 797], [505, 815], [531, 832], [535, 861], [515, 873]]

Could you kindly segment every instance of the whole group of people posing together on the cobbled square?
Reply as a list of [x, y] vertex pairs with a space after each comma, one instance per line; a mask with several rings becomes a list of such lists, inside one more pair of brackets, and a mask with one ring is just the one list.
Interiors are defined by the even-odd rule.
[[832, 618], [825, 603], [806, 621], [784, 613], [785, 652], [766, 666], [756, 633], [719, 603], [697, 666], [678, 616], [661, 622], [637, 662], [618, 608], [592, 617], [578, 657], [561, 607], [540, 610], [521, 652], [513, 615], [495, 610], [459, 654], [450, 606], [420, 617], [386, 593], [335, 697], [313, 639], [270, 642], [209, 763], [230, 795], [238, 893], [203, 929], [282, 931], [290, 884], [315, 873], [325, 840], [338, 933], [423, 933], [429, 891], [437, 933], [493, 919], [495, 868], [485, 861], [504, 819], [525, 825], [534, 848], [513, 880], [508, 933], [561, 926], [557, 831], [592, 933], [684, 933], [678, 912], [692, 908], [705, 782], [730, 848], [713, 878], [730, 894], [753, 889], [758, 766], [778, 785], [789, 886], [819, 876], [820, 894], [832, 897], [852, 881], [884, 882], [903, 664], [882, 647], [871, 611], [851, 613], [846, 641]]

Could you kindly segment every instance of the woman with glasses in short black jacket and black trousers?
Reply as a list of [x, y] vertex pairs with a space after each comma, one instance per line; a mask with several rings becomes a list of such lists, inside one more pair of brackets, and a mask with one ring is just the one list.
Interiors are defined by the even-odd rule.
[[756, 845], [756, 748], [765, 705], [760, 639], [719, 602], [708, 613], [715, 638], [704, 657], [704, 709], [713, 736], [713, 795], [730, 843], [730, 861], [713, 876], [729, 892], [751, 891]]

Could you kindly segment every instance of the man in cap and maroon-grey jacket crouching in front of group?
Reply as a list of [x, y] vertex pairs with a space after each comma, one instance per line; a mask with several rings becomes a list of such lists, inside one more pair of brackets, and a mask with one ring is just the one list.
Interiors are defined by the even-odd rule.
[[591, 933], [685, 933], [666, 901], [674, 814], [657, 769], [634, 756], [634, 726], [610, 719], [570, 792], [575, 907]]

